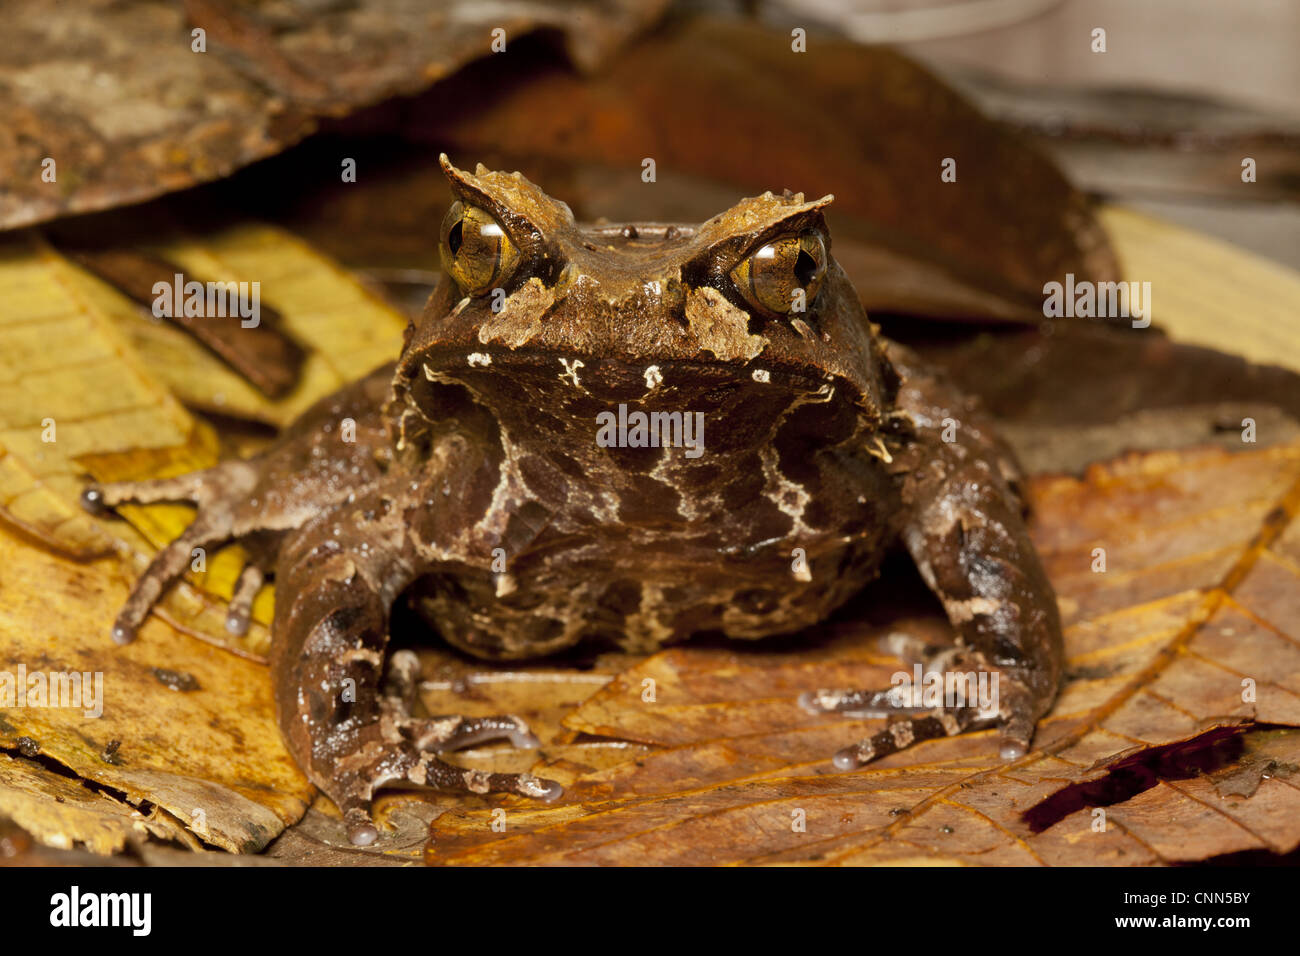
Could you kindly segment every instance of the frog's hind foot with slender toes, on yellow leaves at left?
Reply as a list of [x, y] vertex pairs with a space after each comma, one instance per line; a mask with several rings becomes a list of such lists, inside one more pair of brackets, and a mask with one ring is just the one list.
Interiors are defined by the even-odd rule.
[[[82, 506], [91, 514], [104, 514], [125, 503], [152, 505], [161, 501], [186, 501], [198, 506], [199, 514], [176, 540], [162, 548], [144, 574], [135, 581], [130, 597], [113, 624], [113, 640], [130, 644], [148, 617], [150, 609], [190, 567], [195, 551], [225, 544], [247, 529], [247, 509], [239, 502], [247, 498], [257, 480], [257, 472], [247, 462], [226, 462], [214, 468], [169, 479], [150, 481], [114, 481], [87, 485], [82, 492]], [[237, 593], [235, 627], [247, 630], [247, 605], [261, 587], [261, 572], [246, 571], [240, 575]], [[228, 627], [230, 627], [228, 620]], [[231, 628], [233, 630], [233, 628]]]

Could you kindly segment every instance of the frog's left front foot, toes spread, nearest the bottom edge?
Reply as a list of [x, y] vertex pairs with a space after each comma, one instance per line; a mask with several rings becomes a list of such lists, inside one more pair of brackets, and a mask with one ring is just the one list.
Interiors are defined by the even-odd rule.
[[[407, 734], [411, 736], [407, 737]], [[533, 774], [467, 770], [452, 766], [438, 756], [445, 750], [485, 740], [524, 740], [536, 747], [536, 739], [517, 718], [442, 717], [411, 721], [400, 730], [400, 735], [403, 739], [391, 741], [372, 739], [352, 753], [339, 757], [330, 779], [322, 782], [326, 795], [343, 813], [347, 839], [359, 847], [368, 847], [380, 838], [380, 830], [370, 817], [370, 803], [381, 787], [517, 793], [547, 803], [558, 800], [564, 792], [554, 780]]]

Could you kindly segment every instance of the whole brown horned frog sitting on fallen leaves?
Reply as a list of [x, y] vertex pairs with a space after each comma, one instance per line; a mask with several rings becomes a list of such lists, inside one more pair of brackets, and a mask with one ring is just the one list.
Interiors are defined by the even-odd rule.
[[[308, 408], [264, 451], [82, 502], [188, 502], [192, 523], [112, 627], [133, 640], [192, 549], [248, 555], [228, 628], [274, 579], [276, 719], [348, 839], [381, 839], [385, 787], [554, 801], [532, 773], [443, 760], [537, 748], [510, 714], [426, 715], [399, 604], [476, 658], [584, 641], [650, 653], [827, 620], [905, 549], [950, 624], [894, 635], [927, 674], [992, 674], [992, 701], [807, 688], [815, 714], [884, 717], [854, 770], [996, 728], [1023, 757], [1062, 674], [1056, 597], [1024, 480], [979, 403], [887, 339], [831, 256], [833, 196], [784, 190], [696, 225], [578, 222], [519, 172], [442, 170], [441, 281], [400, 355]], [[411, 618], [411, 615], [406, 615]], [[812, 718], [810, 718], [812, 719]]]

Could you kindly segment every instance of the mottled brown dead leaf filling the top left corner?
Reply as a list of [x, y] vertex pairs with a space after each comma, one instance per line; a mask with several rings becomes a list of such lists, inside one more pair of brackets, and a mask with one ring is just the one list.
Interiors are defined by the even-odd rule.
[[[559, 30], [569, 56], [593, 66], [663, 5], [13, 5], [0, 33], [0, 229], [228, 176], [302, 139], [320, 117], [416, 92], [489, 55], [497, 27], [508, 44]], [[194, 29], [207, 31], [203, 52]], [[56, 163], [53, 182], [44, 160]]]

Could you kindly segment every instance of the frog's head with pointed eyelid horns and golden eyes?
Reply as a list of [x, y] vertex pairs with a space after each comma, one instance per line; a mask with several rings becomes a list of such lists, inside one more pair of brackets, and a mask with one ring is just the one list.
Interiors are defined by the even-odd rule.
[[406, 406], [433, 382], [552, 418], [619, 403], [780, 415], [794, 398], [880, 423], [884, 358], [831, 258], [831, 196], [764, 193], [702, 225], [585, 225], [519, 173], [442, 168], [445, 274], [408, 333]]

